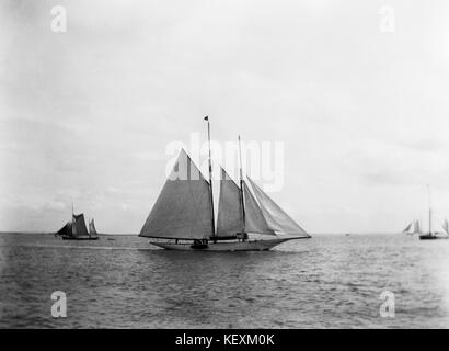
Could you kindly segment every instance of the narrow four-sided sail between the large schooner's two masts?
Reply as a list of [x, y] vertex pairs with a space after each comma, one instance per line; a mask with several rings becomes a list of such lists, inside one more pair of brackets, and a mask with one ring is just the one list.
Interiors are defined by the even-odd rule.
[[240, 188], [221, 168], [220, 200], [218, 202], [217, 238], [235, 237], [243, 231]]

